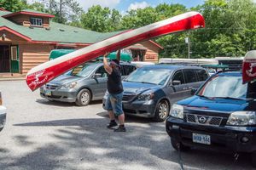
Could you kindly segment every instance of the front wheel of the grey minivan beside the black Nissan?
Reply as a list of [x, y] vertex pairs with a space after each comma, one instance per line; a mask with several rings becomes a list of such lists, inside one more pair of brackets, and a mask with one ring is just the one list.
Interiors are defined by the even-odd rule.
[[154, 113], [155, 122], [164, 122], [169, 115], [170, 105], [166, 99], [161, 100], [157, 106]]

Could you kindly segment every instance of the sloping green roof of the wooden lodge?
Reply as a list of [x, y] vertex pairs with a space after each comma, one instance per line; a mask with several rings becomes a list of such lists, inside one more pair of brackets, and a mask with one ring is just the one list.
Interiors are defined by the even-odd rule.
[[[0, 11], [0, 16], [10, 14], [6, 11]], [[80, 43], [95, 43], [100, 42], [108, 37], [113, 37], [121, 31], [101, 33], [96, 31], [84, 30], [82, 28], [62, 25], [59, 23], [49, 22], [49, 30], [39, 27], [26, 27], [15, 24], [14, 22], [0, 17], [0, 27], [7, 26], [10, 29], [19, 32], [20, 34], [30, 37], [33, 41], [47, 42], [80, 42]]]

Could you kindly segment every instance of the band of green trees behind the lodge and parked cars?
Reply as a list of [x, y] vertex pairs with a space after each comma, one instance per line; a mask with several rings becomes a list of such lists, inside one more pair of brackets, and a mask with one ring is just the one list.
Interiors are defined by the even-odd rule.
[[[182, 4], [161, 3], [156, 7], [138, 8], [121, 15], [118, 10], [93, 6], [84, 12], [76, 0], [0, 0], [9, 11], [24, 8], [55, 14], [55, 21], [69, 23], [92, 31], [110, 32], [135, 29], [159, 20], [199, 11], [206, 20], [206, 28], [184, 31], [156, 38], [164, 50], [161, 57], [212, 58], [243, 56], [256, 48], [256, 6], [253, 0], [206, 0], [202, 5], [186, 8]], [[189, 37], [189, 44], [185, 38]]]

